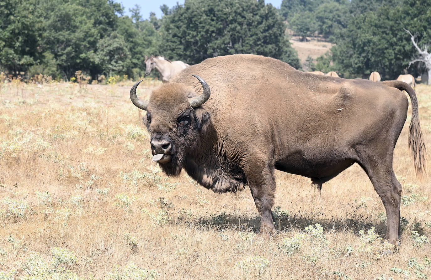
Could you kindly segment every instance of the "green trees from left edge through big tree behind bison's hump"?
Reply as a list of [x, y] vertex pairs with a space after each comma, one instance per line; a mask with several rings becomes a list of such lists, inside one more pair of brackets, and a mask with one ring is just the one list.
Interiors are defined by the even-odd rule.
[[69, 80], [76, 71], [144, 75], [145, 55], [196, 64], [234, 53], [300, 62], [278, 9], [264, 0], [186, 0], [144, 20], [113, 0], [0, 1], [0, 71]]

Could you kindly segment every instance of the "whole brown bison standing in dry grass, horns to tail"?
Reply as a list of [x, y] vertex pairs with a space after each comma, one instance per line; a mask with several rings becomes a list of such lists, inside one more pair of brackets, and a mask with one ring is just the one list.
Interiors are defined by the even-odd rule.
[[264, 237], [276, 233], [274, 169], [311, 178], [320, 190], [358, 163], [386, 209], [387, 239], [399, 243], [401, 185], [392, 160], [409, 105], [403, 90], [412, 101], [415, 171], [421, 178], [426, 170], [418, 102], [406, 83], [346, 80], [297, 71], [273, 58], [228, 55], [184, 69], [148, 102], [137, 97], [138, 84], [130, 98], [147, 110], [144, 122], [155, 160], [164, 158], [163, 172], [178, 176], [184, 168], [215, 192], [248, 185]]

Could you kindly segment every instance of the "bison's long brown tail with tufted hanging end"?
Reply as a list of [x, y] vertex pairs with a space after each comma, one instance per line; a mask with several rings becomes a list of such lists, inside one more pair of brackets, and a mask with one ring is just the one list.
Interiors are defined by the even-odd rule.
[[409, 126], [409, 148], [415, 166], [416, 176], [419, 181], [423, 182], [427, 177], [427, 151], [419, 124], [418, 99], [416, 98], [416, 93], [411, 86], [401, 81], [386, 81], [384, 83], [388, 84], [388, 86], [405, 90], [412, 101], [412, 120]]

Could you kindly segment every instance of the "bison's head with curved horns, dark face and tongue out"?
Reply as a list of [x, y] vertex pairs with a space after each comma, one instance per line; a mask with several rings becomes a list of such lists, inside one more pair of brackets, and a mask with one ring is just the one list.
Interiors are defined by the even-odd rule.
[[147, 111], [144, 123], [151, 135], [153, 161], [170, 176], [179, 175], [185, 157], [194, 151], [209, 123], [209, 113], [201, 107], [209, 99], [209, 86], [199, 76], [193, 76], [202, 85], [201, 95], [196, 96], [191, 87], [182, 83], [166, 83], [153, 90], [146, 102], [136, 95], [142, 80], [130, 90], [133, 104]]

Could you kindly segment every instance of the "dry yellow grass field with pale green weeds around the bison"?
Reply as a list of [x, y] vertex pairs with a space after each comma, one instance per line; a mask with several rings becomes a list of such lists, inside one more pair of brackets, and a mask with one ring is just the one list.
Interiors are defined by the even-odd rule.
[[[309, 179], [277, 172], [278, 235], [262, 240], [248, 188], [214, 194], [160, 172], [132, 84], [0, 84], [0, 280], [431, 278], [431, 185], [415, 178], [410, 113], [394, 154], [398, 252], [357, 165], [321, 197]], [[416, 92], [430, 157], [431, 87]]]

